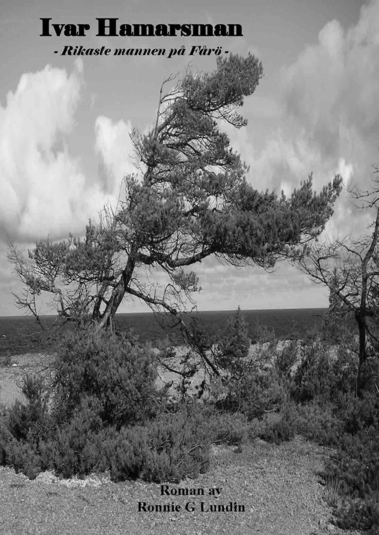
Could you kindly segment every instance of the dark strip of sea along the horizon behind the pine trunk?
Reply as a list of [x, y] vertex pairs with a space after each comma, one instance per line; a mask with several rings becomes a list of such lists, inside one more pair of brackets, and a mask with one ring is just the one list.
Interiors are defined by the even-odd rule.
[[[242, 314], [248, 325], [250, 337], [254, 340], [257, 333], [266, 329], [274, 331], [279, 339], [307, 338], [316, 332], [322, 324], [326, 309], [281, 309], [281, 310], [243, 310]], [[196, 312], [192, 315], [198, 326], [206, 330], [211, 338], [220, 339], [227, 320], [235, 311], [222, 310], [213, 312]], [[54, 322], [53, 316], [42, 318], [47, 325]], [[117, 314], [116, 328], [120, 331], [133, 329], [140, 342], [151, 341], [156, 345], [166, 338], [180, 343], [179, 331], [162, 327], [162, 318], [151, 313]], [[72, 325], [64, 329], [73, 329]], [[56, 345], [50, 335], [41, 333], [40, 327], [31, 317], [0, 317], [0, 356], [20, 353], [36, 353]]]

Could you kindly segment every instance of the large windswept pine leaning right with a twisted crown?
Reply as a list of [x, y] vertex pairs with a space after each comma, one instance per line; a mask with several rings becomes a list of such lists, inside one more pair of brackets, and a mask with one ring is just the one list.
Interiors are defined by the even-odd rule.
[[[41, 241], [28, 259], [11, 244], [9, 258], [25, 286], [19, 307], [38, 317], [36, 298], [48, 292], [60, 317], [90, 315], [107, 328], [132, 296], [182, 323], [203, 259], [269, 269], [315, 238], [332, 214], [340, 178], [319, 194], [311, 175], [288, 198], [259, 192], [222, 131], [225, 123], [247, 124], [239, 109], [262, 75], [254, 56], [231, 54], [219, 57], [213, 72], [165, 80], [154, 127], [131, 134], [138, 167], [124, 177], [117, 207], [90, 220], [84, 239]], [[164, 273], [164, 284], [154, 270]]]

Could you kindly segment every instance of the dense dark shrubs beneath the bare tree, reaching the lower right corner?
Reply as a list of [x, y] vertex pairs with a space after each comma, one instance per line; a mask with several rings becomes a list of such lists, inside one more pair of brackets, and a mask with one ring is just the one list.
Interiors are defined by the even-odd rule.
[[371, 349], [365, 392], [357, 396], [356, 340], [344, 323], [326, 316], [317, 337], [300, 345], [290, 342], [274, 359], [277, 341], [261, 332], [264, 337], [255, 337], [260, 345], [254, 362], [247, 363], [240, 391], [229, 395], [224, 408], [241, 411], [254, 434], [265, 440], [280, 442], [299, 433], [333, 447], [336, 453], [324, 479], [326, 485], [338, 483], [339, 525], [379, 532], [377, 349]]

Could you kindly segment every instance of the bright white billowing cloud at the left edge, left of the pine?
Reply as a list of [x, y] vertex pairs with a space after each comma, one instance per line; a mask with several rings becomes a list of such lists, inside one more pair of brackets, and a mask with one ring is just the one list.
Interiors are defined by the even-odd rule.
[[[47, 65], [21, 76], [0, 106], [0, 235], [60, 238], [83, 230], [101, 192], [86, 188], [68, 136], [83, 86], [82, 65], [71, 74]], [[86, 195], [84, 192], [86, 191]]]

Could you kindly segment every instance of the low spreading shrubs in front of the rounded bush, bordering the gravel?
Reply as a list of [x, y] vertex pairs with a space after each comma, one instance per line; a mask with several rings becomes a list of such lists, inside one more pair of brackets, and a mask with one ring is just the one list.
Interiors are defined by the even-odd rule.
[[102, 400], [87, 395], [69, 420], [53, 425], [44, 412], [43, 389], [33, 389], [30, 379], [25, 384], [35, 396], [2, 414], [0, 456], [30, 478], [46, 469], [69, 478], [110, 468], [114, 480], [179, 481], [196, 477], [209, 464], [212, 433], [194, 402], [146, 425], [119, 427], [103, 422]]

